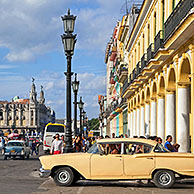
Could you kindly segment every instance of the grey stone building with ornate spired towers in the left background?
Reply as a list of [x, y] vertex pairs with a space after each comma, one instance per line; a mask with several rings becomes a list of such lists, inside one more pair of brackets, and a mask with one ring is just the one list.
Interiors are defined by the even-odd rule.
[[45, 105], [42, 86], [40, 97], [37, 99], [34, 79], [29, 99], [16, 96], [11, 102], [0, 101], [0, 130], [3, 132], [41, 132], [48, 122], [55, 122], [55, 113]]

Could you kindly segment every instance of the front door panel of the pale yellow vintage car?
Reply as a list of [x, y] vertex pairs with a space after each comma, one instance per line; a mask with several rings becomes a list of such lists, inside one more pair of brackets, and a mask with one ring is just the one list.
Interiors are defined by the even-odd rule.
[[92, 179], [119, 179], [123, 176], [122, 154], [92, 154], [90, 158]]

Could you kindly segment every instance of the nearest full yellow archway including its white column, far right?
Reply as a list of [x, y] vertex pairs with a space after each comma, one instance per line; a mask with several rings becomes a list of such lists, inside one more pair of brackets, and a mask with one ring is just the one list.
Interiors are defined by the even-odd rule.
[[180, 64], [178, 91], [177, 91], [177, 142], [180, 152], [191, 151], [190, 118], [191, 113], [191, 87], [190, 87], [190, 62], [184, 58]]

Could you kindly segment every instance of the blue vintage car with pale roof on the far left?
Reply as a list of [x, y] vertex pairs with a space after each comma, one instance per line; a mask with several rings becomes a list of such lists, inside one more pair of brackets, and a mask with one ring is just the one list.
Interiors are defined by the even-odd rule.
[[27, 147], [27, 144], [22, 140], [11, 140], [8, 141], [7, 145], [2, 149], [2, 155], [4, 160], [16, 157], [21, 159], [29, 158], [30, 148]]

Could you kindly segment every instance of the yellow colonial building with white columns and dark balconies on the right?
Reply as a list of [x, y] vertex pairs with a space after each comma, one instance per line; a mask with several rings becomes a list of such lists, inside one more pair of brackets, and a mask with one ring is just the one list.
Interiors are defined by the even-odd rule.
[[118, 30], [130, 136], [172, 135], [180, 152], [194, 152], [193, 7], [193, 0], [145, 0], [126, 39], [126, 19]]

